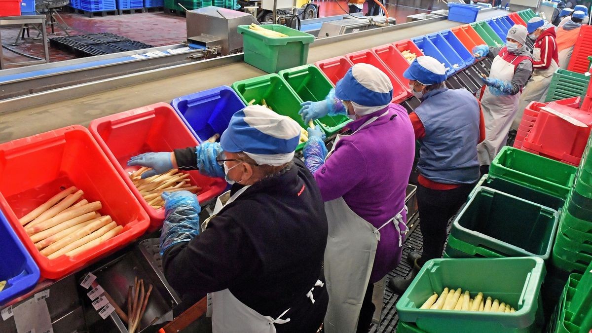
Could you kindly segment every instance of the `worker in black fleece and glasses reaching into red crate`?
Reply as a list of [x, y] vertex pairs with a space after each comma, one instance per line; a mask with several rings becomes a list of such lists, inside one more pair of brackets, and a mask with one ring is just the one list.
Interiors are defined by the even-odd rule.
[[220, 143], [128, 162], [157, 173], [198, 168], [231, 184], [203, 232], [194, 194], [162, 196], [165, 277], [179, 295], [211, 293], [214, 333], [314, 333], [321, 326], [329, 302], [321, 268], [327, 218], [316, 181], [294, 158], [299, 139], [296, 121], [251, 105], [231, 117]]

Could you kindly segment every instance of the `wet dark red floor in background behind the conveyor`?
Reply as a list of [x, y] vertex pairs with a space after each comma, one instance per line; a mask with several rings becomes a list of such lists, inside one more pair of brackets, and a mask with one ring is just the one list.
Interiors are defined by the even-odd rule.
[[[316, 4], [320, 7], [320, 17], [343, 14], [343, 9], [348, 9], [345, 0], [339, 0], [339, 5], [341, 5], [343, 9], [339, 7], [336, 0], [317, 1]], [[363, 12], [366, 12], [366, 8], [367, 5], [365, 5]], [[392, 0], [387, 4], [389, 16], [394, 17], [397, 20], [397, 23], [404, 23], [407, 19], [407, 15], [429, 12], [429, 10], [419, 8], [437, 10], [446, 8], [446, 4], [431, 0]], [[68, 30], [70, 35], [109, 32], [153, 46], [178, 44], [186, 38], [185, 17], [164, 14], [163, 12], [107, 15], [105, 17], [93, 18], [88, 18], [81, 14], [65, 12], [62, 12], [61, 15], [70, 27]], [[37, 36], [37, 31], [33, 29], [30, 31], [31, 38], [27, 38], [25, 41], [21, 40], [18, 46], [12, 46], [18, 30], [19, 27], [3, 26], [2, 45], [11, 49], [16, 49], [22, 53], [27, 53], [28, 55], [43, 57], [43, 45], [40, 40], [33, 39], [33, 37]], [[51, 33], [49, 27], [47, 28], [47, 31], [49, 38], [66, 36], [64, 31], [57, 26], [55, 27], [54, 34]], [[73, 58], [75, 58], [75, 56], [70, 53], [50, 48], [51, 62]], [[9, 52], [7, 49], [4, 49], [4, 59], [6, 62], [20, 62], [27, 60], [22, 56]]]

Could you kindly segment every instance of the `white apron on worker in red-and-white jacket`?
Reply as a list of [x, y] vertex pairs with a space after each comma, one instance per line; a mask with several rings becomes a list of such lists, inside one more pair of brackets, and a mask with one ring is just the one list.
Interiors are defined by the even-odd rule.
[[[552, 39], [552, 41], [555, 43], [554, 39]], [[556, 44], [555, 47], [557, 47]], [[540, 61], [539, 47], [535, 47], [535, 49], [532, 50], [532, 59]], [[551, 79], [553, 78], [553, 73], [555, 73], [558, 68], [559, 65], [555, 60], [551, 60], [551, 65], [549, 65], [547, 69], [535, 69], [532, 72], [532, 76], [530, 76], [530, 79], [526, 82], [526, 87], [522, 91], [522, 95], [520, 95], [516, 116], [512, 122], [512, 129], [518, 130], [522, 115], [524, 114], [524, 108], [527, 107], [530, 102], [545, 101], [547, 91], [549, 91], [549, 85], [551, 84]]]

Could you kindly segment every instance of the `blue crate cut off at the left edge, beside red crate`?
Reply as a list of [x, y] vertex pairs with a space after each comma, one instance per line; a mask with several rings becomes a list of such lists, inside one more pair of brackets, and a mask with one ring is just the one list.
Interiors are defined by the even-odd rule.
[[39, 268], [31, 258], [10, 223], [0, 212], [0, 252], [4, 254], [0, 265], [0, 281], [7, 281], [0, 292], [0, 305], [27, 293], [39, 280]]

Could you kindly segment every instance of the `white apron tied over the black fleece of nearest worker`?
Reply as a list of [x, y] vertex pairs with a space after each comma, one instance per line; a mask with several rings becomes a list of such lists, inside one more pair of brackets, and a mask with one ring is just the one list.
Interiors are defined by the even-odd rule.
[[[230, 196], [230, 191], [226, 191], [216, 199], [214, 212], [210, 217], [205, 219], [202, 228], [207, 228], [208, 222], [216, 216], [223, 209], [224, 206], [236, 200], [250, 185], [247, 185], [236, 191], [233, 196]], [[224, 203], [224, 201], [226, 201]], [[323, 287], [324, 283], [317, 280], [313, 288], [303, 297], [308, 297], [312, 303], [314, 287]], [[263, 316], [259, 312], [244, 305], [239, 299], [234, 297], [229, 289], [221, 290], [208, 294], [208, 316], [212, 317], [212, 331], [213, 333], [275, 333], [275, 324], [281, 325], [290, 321], [289, 318], [282, 317], [290, 309], [284, 310], [278, 318], [270, 316]]]

